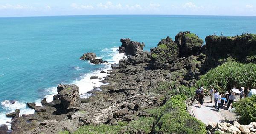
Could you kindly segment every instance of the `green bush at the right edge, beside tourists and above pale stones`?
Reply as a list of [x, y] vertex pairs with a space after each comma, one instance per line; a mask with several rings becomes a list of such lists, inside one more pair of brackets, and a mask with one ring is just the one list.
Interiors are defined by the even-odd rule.
[[250, 124], [256, 121], [256, 95], [239, 100], [233, 104], [235, 112], [239, 115], [241, 124]]

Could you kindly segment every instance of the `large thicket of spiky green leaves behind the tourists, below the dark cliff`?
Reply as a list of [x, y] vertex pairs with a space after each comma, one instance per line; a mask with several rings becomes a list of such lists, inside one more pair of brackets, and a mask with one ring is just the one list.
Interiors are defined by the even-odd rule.
[[197, 85], [214, 86], [220, 92], [233, 87], [256, 87], [256, 64], [228, 61], [203, 75]]

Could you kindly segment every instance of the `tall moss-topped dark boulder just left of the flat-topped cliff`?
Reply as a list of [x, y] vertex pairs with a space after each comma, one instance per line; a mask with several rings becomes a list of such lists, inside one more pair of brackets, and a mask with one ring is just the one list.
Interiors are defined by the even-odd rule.
[[175, 42], [179, 46], [180, 56], [197, 56], [203, 45], [203, 40], [193, 33], [180, 32], [175, 36]]

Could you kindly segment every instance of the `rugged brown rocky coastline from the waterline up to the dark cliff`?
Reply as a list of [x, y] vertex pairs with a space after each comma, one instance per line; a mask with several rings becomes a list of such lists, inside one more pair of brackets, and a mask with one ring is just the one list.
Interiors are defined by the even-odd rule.
[[[144, 43], [121, 39], [119, 53], [125, 53], [128, 58], [112, 64], [112, 70], [101, 72], [109, 75], [99, 80], [102, 86], [88, 92], [92, 94], [89, 98], [81, 99], [76, 85], [58, 85], [58, 94], [52, 102], [43, 99], [43, 106], [27, 103], [29, 108], [35, 109], [35, 114], [19, 117], [19, 109], [6, 114], [12, 117], [9, 133], [73, 133], [84, 125], [115, 125], [148, 117], [150, 114], [145, 109], [163, 106], [169, 99], [166, 90], [156, 90], [160, 83], [175, 81], [175, 86], [192, 87], [201, 75], [227, 60], [255, 63], [254, 38], [251, 34], [207, 36], [203, 45], [202, 39], [187, 31], [178, 33], [175, 40], [169, 36], [161, 39], [150, 52], [143, 51]], [[240, 53], [241, 50], [246, 53]], [[84, 53], [80, 59], [93, 64], [106, 63], [94, 53]], [[6, 129], [6, 126], [0, 127], [3, 134], [7, 133]]]

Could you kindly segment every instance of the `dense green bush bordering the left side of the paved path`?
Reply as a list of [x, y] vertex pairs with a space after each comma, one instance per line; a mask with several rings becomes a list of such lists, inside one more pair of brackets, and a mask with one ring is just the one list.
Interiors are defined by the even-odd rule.
[[205, 125], [186, 111], [186, 96], [175, 95], [163, 107], [151, 110], [155, 117], [153, 133], [205, 134]]

